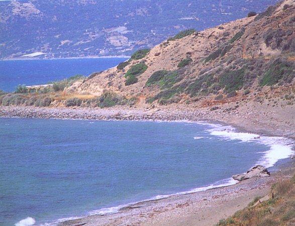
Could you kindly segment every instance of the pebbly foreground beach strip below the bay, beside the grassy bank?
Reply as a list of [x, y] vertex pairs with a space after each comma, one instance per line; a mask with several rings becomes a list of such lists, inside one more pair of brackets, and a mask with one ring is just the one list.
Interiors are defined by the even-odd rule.
[[267, 195], [276, 180], [289, 178], [295, 162], [288, 159], [282, 161], [284, 163], [277, 166], [277, 171], [267, 178], [251, 178], [205, 191], [172, 194], [115, 206], [111, 208], [119, 208], [112, 213], [96, 212], [64, 218], [53, 225], [213, 225], [245, 208], [255, 197]]

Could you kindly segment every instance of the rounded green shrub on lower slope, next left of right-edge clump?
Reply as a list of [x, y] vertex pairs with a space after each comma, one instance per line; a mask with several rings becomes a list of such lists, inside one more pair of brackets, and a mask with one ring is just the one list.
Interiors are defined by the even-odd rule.
[[244, 74], [244, 69], [223, 73], [220, 76], [220, 84], [225, 87], [227, 93], [241, 89], [244, 85]]

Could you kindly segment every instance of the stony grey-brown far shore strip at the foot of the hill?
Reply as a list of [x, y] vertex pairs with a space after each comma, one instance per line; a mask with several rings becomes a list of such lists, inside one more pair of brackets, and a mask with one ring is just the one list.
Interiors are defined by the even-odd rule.
[[[295, 113], [295, 109], [292, 109], [292, 111]], [[292, 111], [288, 114], [288, 118], [292, 118], [293, 120]], [[286, 122], [283, 122], [280, 119], [271, 117], [270, 114], [270, 116], [267, 116], [265, 112], [262, 113], [261, 116], [259, 116], [253, 111], [252, 114], [248, 115], [247, 113], [245, 114], [245, 112], [239, 111], [224, 112], [222, 108], [220, 111], [211, 111], [209, 108], [194, 108], [193, 106], [177, 106], [172, 104], [159, 108], [132, 108], [127, 106], [83, 108], [0, 105], [0, 118], [90, 121], [206, 121], [211, 124], [232, 126], [240, 132], [287, 137], [295, 140], [295, 119], [292, 124], [287, 121], [287, 117]], [[284, 113], [283, 111], [283, 114]], [[254, 115], [254, 117], [252, 115]]]

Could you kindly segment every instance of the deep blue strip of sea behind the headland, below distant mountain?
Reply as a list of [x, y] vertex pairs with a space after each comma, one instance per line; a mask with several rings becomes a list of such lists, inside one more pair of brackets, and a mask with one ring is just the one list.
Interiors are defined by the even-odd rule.
[[18, 85], [41, 85], [73, 75], [88, 76], [128, 58], [80, 58], [54, 60], [0, 60], [0, 89], [15, 91]]

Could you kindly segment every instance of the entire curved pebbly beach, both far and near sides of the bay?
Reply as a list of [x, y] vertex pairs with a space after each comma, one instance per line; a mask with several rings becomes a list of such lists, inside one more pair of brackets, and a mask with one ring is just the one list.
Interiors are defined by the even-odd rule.
[[[294, 108], [270, 110], [253, 106], [227, 110], [170, 105], [161, 108], [38, 108], [0, 106], [0, 117], [80, 119], [80, 120], [150, 120], [206, 121], [232, 125], [239, 131], [268, 136], [295, 137]], [[266, 110], [265, 110], [266, 109]], [[282, 117], [283, 116], [283, 117]], [[293, 144], [290, 144], [293, 145]], [[265, 196], [276, 180], [293, 174], [295, 162], [285, 161], [268, 178], [254, 178], [235, 185], [183, 195], [173, 195], [124, 207], [117, 213], [92, 215], [60, 222], [59, 225], [214, 225], [248, 205], [257, 196]]]

